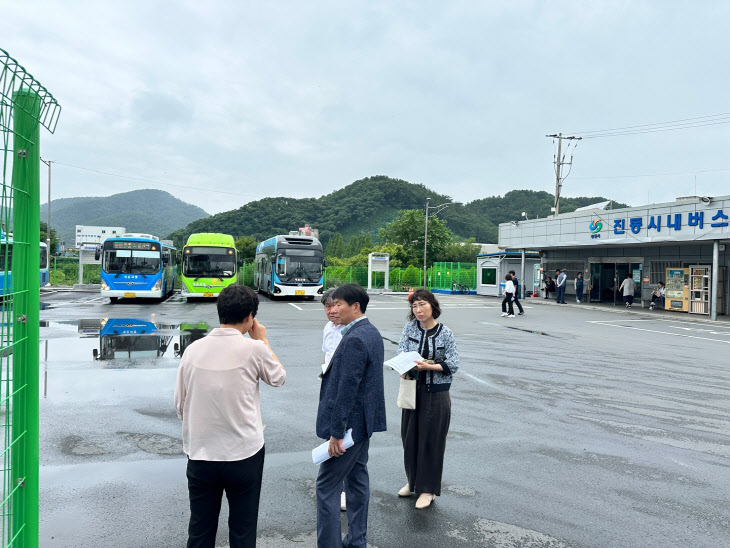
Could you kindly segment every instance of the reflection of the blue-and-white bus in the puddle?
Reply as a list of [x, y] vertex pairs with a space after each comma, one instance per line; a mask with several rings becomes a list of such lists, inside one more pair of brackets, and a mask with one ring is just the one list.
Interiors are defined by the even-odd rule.
[[99, 321], [99, 349], [95, 360], [159, 358], [165, 355], [173, 335], [167, 327], [137, 318]]

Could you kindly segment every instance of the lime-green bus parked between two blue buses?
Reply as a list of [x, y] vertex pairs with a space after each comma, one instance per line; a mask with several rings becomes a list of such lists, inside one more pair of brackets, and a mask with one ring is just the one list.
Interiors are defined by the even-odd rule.
[[224, 287], [238, 283], [240, 266], [233, 236], [191, 234], [182, 253], [181, 295], [217, 297]]

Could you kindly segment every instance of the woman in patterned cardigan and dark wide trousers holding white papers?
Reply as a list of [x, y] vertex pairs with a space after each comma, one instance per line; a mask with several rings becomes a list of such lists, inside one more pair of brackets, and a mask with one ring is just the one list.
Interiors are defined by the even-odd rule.
[[411, 312], [403, 328], [398, 353], [416, 351], [423, 360], [406, 373], [416, 379], [416, 408], [403, 409], [401, 439], [408, 483], [400, 497], [419, 495], [416, 508], [428, 508], [441, 495], [446, 434], [451, 422], [449, 388], [459, 369], [459, 354], [451, 330], [436, 320], [441, 307], [433, 293], [419, 289], [408, 298]]

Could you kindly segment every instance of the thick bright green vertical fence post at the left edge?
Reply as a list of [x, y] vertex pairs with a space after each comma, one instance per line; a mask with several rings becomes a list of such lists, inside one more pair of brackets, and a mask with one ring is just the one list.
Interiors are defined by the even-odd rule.
[[[13, 94], [13, 378], [10, 484], [11, 542], [38, 546], [38, 360], [40, 338], [40, 97], [24, 88]], [[50, 207], [50, 204], [49, 204]], [[9, 396], [10, 394], [6, 394]], [[6, 416], [6, 420], [9, 417]], [[7, 444], [6, 444], [7, 447]], [[12, 491], [11, 491], [12, 492]], [[9, 493], [6, 493], [8, 496]], [[4, 509], [5, 510], [5, 509]]]

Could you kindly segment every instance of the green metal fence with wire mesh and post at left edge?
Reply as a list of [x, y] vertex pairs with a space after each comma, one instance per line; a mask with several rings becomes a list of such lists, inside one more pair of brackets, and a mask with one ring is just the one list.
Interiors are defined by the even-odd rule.
[[38, 546], [39, 137], [40, 126], [53, 133], [59, 114], [53, 96], [0, 49], [0, 545], [5, 547]]

